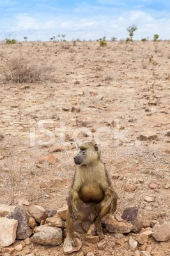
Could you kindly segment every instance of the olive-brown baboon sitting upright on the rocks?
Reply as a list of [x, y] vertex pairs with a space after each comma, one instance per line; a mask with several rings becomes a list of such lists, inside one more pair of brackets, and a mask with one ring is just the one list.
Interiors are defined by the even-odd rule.
[[111, 186], [111, 179], [100, 159], [97, 144], [91, 142], [80, 145], [79, 154], [73, 159], [76, 170], [67, 199], [66, 236], [70, 239], [72, 246], [77, 246], [77, 239], [73, 232], [73, 221], [79, 216], [77, 205], [79, 203], [92, 205], [93, 212], [89, 214], [89, 219], [94, 221], [95, 232], [101, 240], [104, 236], [101, 220], [105, 214], [116, 211], [118, 195]]

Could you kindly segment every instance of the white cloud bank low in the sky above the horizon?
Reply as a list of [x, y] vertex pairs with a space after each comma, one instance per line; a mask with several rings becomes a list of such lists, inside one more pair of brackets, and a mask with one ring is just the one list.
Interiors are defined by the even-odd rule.
[[[105, 10], [105, 9], [104, 9]], [[23, 36], [27, 36], [29, 40], [49, 40], [51, 36], [65, 34], [66, 40], [72, 38], [81, 39], [97, 39], [106, 35], [108, 39], [112, 36], [126, 38], [128, 36], [128, 26], [133, 23], [137, 25], [138, 30], [135, 31], [134, 39], [140, 40], [141, 37], [150, 36], [157, 33], [160, 38], [168, 39], [170, 35], [169, 13], [162, 13], [160, 19], [157, 14], [139, 10], [131, 10], [120, 13], [111, 12], [107, 15], [104, 12], [96, 13], [75, 13], [72, 16], [56, 15], [54, 16], [38, 16], [22, 13], [6, 22], [0, 18], [1, 24], [5, 24], [3, 29], [8, 29], [16, 35], [16, 39], [22, 40]], [[164, 29], [162, 29], [164, 28]], [[3, 32], [1, 39], [4, 39]]]

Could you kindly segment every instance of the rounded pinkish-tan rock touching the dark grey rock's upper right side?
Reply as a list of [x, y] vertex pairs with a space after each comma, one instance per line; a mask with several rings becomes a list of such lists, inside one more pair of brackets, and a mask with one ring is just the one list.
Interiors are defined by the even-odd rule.
[[29, 214], [39, 223], [48, 218], [48, 214], [45, 209], [39, 205], [30, 205], [28, 211]]

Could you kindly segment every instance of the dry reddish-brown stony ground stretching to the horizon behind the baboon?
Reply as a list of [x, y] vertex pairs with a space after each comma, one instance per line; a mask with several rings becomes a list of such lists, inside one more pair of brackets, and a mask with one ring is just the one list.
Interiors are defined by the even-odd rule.
[[[54, 80], [0, 85], [0, 204], [17, 204], [20, 198], [51, 210], [65, 204], [75, 170], [73, 132], [86, 127], [93, 136], [100, 133], [102, 160], [120, 195], [118, 214], [126, 207], [140, 206], [146, 210], [146, 221], [169, 220], [169, 42], [108, 42], [104, 48], [98, 42], [77, 42], [75, 46], [73, 42], [64, 46], [62, 42], [1, 44], [1, 74], [16, 56], [35, 65], [49, 63], [54, 67]], [[154, 93], [150, 56], [158, 63]], [[80, 112], [73, 111], [73, 106]], [[38, 165], [39, 157], [54, 147], [47, 130], [38, 130], [41, 120], [47, 121], [43, 127], [52, 132], [56, 145], [61, 144], [63, 134], [68, 134], [64, 151], [52, 153], [57, 164]], [[101, 127], [111, 133], [98, 132]], [[144, 132], [154, 132], [157, 140], [139, 140]], [[80, 137], [88, 138], [83, 134]], [[39, 140], [49, 144], [40, 145]], [[151, 189], [151, 183], [157, 188]], [[137, 189], [127, 192], [127, 184]], [[145, 202], [144, 196], [153, 196], [153, 202]], [[107, 248], [101, 252], [96, 244], [84, 242], [82, 251], [104, 256], [134, 255], [128, 248], [128, 237], [113, 246], [114, 237], [108, 232], [105, 241]], [[170, 242], [156, 243], [150, 238], [150, 244], [152, 255], [170, 255]], [[18, 255], [33, 249], [36, 255], [63, 255], [59, 246], [36, 245]]]

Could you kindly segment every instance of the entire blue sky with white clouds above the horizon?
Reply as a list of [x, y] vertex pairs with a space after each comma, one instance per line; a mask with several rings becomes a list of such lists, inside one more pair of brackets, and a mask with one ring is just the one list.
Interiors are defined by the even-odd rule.
[[65, 34], [67, 40], [112, 36], [127, 38], [126, 28], [139, 28], [134, 39], [157, 33], [170, 38], [169, 0], [0, 0], [0, 40], [47, 41]]

